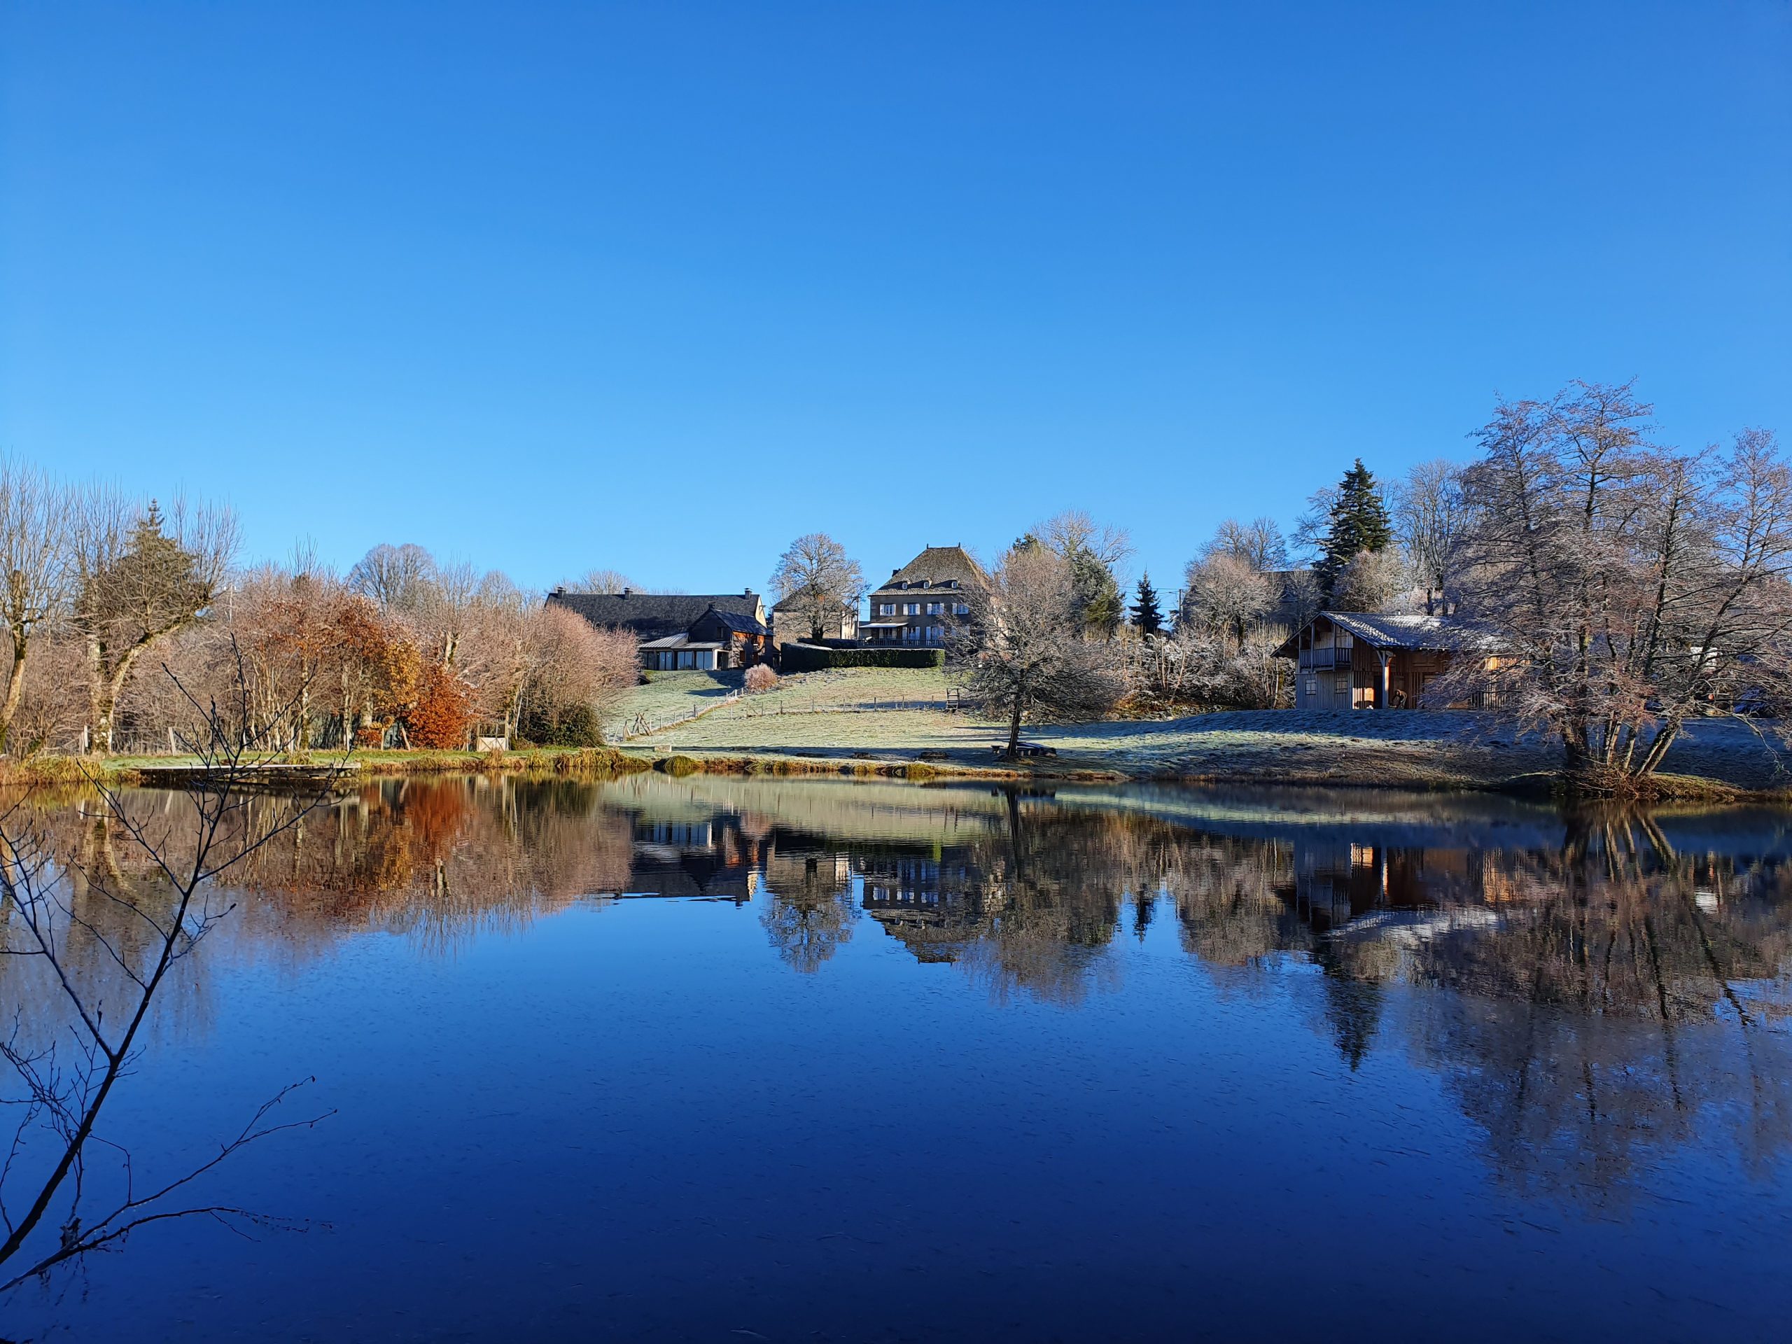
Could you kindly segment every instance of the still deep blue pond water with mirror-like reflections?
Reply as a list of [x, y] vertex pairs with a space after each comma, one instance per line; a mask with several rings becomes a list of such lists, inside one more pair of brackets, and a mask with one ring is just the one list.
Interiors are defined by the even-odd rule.
[[369, 788], [253, 860], [109, 1125], [172, 1170], [314, 1073], [206, 1188], [312, 1229], [151, 1228], [0, 1333], [1787, 1339], [1787, 823]]

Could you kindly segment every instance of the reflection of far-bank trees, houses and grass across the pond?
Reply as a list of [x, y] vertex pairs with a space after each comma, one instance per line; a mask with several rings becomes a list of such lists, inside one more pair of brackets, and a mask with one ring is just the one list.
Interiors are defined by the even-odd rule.
[[[84, 864], [152, 882], [104, 819], [50, 821]], [[754, 903], [799, 975], [828, 973], [857, 934], [996, 1002], [1073, 1007], [1124, 982], [1124, 934], [1158, 948], [1174, 926], [1188, 973], [1292, 993], [1349, 1070], [1387, 1052], [1439, 1073], [1502, 1179], [1613, 1197], [1677, 1145], [1756, 1168], [1783, 1154], [1788, 876], [1783, 817], [1765, 810], [410, 780], [256, 853], [231, 946], [306, 955], [378, 930], [452, 955], [575, 901], [670, 896]], [[185, 993], [188, 1025], [213, 1011]]]

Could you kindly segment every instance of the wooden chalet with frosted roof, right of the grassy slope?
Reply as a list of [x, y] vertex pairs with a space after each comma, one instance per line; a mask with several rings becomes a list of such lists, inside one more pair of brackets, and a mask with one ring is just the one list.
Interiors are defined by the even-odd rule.
[[[1296, 710], [1407, 710], [1457, 659], [1491, 663], [1486, 634], [1450, 616], [1321, 611], [1288, 636], [1278, 658], [1296, 661]], [[1480, 699], [1452, 710], [1478, 710]]]

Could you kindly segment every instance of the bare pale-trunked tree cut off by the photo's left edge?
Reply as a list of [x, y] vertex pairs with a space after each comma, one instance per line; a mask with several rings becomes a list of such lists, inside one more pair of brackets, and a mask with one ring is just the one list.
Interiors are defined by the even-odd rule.
[[36, 468], [0, 459], [0, 618], [13, 643], [0, 699], [0, 751], [9, 744], [25, 694], [32, 640], [68, 597], [68, 491]]

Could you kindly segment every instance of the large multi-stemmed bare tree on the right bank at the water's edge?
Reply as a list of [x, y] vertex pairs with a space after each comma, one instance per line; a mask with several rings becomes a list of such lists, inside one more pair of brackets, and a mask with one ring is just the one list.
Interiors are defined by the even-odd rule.
[[1563, 742], [1570, 780], [1647, 790], [1688, 717], [1745, 713], [1792, 672], [1792, 471], [1647, 439], [1631, 385], [1502, 401], [1468, 475], [1469, 602], [1507, 654], [1464, 668]]

